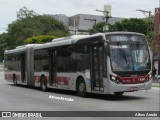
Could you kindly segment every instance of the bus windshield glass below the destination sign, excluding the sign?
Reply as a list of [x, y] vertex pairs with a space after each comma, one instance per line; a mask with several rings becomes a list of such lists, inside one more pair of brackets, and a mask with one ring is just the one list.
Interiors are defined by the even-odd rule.
[[113, 71], [149, 70], [147, 45], [110, 45]]

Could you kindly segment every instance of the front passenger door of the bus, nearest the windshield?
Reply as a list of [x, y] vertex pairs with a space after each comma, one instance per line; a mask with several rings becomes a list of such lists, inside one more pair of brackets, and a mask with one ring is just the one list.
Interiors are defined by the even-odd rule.
[[103, 91], [103, 44], [91, 46], [91, 85], [92, 90]]

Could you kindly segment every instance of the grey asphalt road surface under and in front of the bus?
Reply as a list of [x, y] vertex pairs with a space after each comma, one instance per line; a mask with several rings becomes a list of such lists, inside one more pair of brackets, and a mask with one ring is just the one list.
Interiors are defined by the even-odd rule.
[[[0, 111], [159, 111], [160, 90], [152, 87], [149, 91], [125, 93], [123, 96], [89, 94], [79, 97], [75, 92], [49, 90], [42, 92], [37, 88], [14, 86], [4, 80], [0, 72]], [[54, 98], [49, 98], [52, 96]], [[60, 97], [61, 99], [57, 99]], [[68, 101], [68, 99], [72, 101]], [[6, 118], [5, 118], [6, 119]], [[17, 118], [16, 118], [17, 119]], [[53, 119], [53, 118], [45, 118]], [[56, 118], [55, 118], [56, 119]], [[59, 119], [103, 119], [103, 120], [159, 120], [155, 117], [82, 117]]]

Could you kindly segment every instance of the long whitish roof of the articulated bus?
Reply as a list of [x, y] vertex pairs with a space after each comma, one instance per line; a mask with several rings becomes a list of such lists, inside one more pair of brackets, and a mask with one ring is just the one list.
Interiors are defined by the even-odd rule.
[[[27, 44], [22, 46], [17, 46], [15, 49], [6, 50], [5, 53], [14, 53], [14, 52], [21, 52], [26, 51], [28, 47], [33, 47], [34, 49], [43, 49], [43, 48], [50, 48], [50, 47], [57, 47], [57, 46], [64, 46], [64, 45], [72, 45], [82, 41], [94, 41], [94, 40], [105, 40], [105, 35], [115, 35], [115, 34], [134, 34], [134, 35], [143, 35], [141, 33], [136, 32], [107, 32], [107, 33], [96, 33], [93, 35], [73, 35], [63, 38], [56, 38], [53, 39], [51, 42], [44, 43], [44, 44]], [[91, 39], [92, 38], [92, 39]]]

